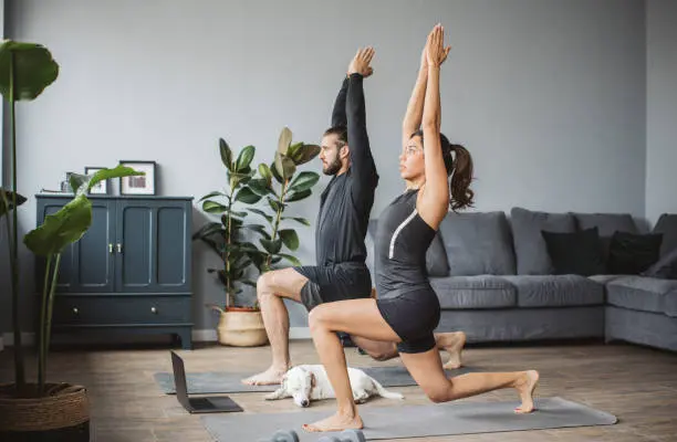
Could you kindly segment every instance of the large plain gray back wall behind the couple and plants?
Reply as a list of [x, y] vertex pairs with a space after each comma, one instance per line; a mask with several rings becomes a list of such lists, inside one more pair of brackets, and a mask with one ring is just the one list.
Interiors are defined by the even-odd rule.
[[[199, 198], [225, 186], [218, 137], [253, 144], [267, 161], [284, 125], [317, 141], [350, 59], [372, 44], [365, 87], [382, 177], [377, 217], [403, 189], [399, 125], [425, 38], [442, 22], [454, 46], [442, 69], [442, 129], [475, 156], [478, 210], [645, 213], [643, 1], [9, 3], [11, 36], [48, 45], [61, 64], [56, 83], [19, 107], [27, 194], [87, 165], [155, 159], [163, 194]], [[296, 206], [299, 215], [314, 222], [326, 182]], [[21, 223], [33, 227], [34, 199]], [[311, 263], [312, 229], [303, 239], [300, 257]], [[202, 306], [220, 301], [204, 272], [209, 261], [196, 246], [197, 328], [215, 324]], [[0, 304], [4, 314], [7, 299]], [[292, 325], [304, 320], [296, 308]]]

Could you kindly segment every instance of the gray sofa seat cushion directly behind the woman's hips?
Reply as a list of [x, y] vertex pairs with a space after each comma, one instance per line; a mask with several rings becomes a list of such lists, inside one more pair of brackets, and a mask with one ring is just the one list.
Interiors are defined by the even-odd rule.
[[515, 290], [493, 275], [431, 277], [442, 309], [502, 308], [515, 306]]

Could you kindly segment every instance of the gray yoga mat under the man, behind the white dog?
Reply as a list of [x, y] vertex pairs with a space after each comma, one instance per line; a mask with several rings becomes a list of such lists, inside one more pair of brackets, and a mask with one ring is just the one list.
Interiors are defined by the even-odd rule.
[[[403, 366], [393, 367], [360, 367], [364, 372], [376, 379], [384, 387], [407, 387], [415, 386], [416, 382]], [[447, 370], [447, 376], [458, 376], [466, 372], [480, 371], [472, 367], [461, 367], [457, 370]], [[226, 372], [208, 371], [192, 372], [186, 375], [188, 393], [190, 394], [213, 394], [213, 393], [242, 393], [257, 391], [275, 391], [280, 386], [246, 386], [241, 382], [251, 376], [251, 372]], [[155, 381], [163, 392], [176, 394], [174, 387], [174, 375], [169, 372], [156, 372]]]

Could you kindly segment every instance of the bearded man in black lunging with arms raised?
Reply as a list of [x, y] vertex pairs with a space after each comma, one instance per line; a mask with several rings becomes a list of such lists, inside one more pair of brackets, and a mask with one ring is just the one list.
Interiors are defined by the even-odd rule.
[[[283, 297], [302, 303], [311, 311], [322, 303], [372, 295], [364, 239], [378, 173], [366, 130], [363, 80], [373, 73], [369, 66], [373, 57], [374, 49], [366, 48], [360, 49], [351, 61], [334, 102], [332, 127], [322, 137], [319, 155], [322, 171], [333, 178], [320, 198], [315, 225], [316, 265], [270, 271], [257, 282], [272, 364], [265, 371], [243, 379], [243, 383], [280, 383], [291, 367], [289, 313]], [[393, 343], [361, 338], [353, 340], [375, 359], [385, 360], [397, 356]], [[458, 346], [459, 339], [449, 337], [439, 343], [447, 348], [451, 340], [454, 346]]]

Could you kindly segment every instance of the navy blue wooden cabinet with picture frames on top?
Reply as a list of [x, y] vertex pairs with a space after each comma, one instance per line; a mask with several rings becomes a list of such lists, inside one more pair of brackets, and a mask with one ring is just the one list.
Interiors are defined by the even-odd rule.
[[[38, 223], [71, 201], [38, 194]], [[90, 196], [92, 225], [61, 257], [53, 330], [173, 334], [191, 344], [192, 198]], [[42, 293], [44, 260], [37, 260]]]

